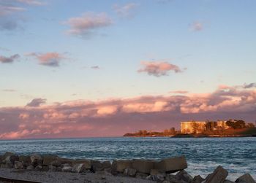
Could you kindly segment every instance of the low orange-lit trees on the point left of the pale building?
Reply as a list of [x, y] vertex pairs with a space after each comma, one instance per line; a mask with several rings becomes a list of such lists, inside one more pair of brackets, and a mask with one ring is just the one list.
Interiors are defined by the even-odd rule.
[[174, 136], [177, 131], [175, 128], [165, 129], [165, 131], [157, 132], [157, 131], [146, 131], [140, 130], [135, 133], [126, 133], [124, 136]]

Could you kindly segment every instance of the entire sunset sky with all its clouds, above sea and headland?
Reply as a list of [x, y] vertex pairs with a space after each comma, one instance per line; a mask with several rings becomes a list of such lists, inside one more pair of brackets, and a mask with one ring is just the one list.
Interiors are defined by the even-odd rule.
[[0, 139], [256, 120], [255, 0], [0, 0]]

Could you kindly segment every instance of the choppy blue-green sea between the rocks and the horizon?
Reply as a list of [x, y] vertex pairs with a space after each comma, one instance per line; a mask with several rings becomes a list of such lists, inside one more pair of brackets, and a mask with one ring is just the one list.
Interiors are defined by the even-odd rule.
[[249, 173], [256, 179], [256, 138], [88, 138], [0, 141], [0, 154], [55, 154], [60, 157], [115, 160], [160, 160], [185, 155], [192, 176], [206, 176], [217, 166], [235, 180]]

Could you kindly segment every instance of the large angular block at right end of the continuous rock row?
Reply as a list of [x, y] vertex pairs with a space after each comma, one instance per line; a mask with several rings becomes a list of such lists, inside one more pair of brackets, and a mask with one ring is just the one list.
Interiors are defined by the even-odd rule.
[[170, 157], [156, 163], [155, 168], [165, 171], [168, 174], [181, 171], [187, 168], [186, 157]]

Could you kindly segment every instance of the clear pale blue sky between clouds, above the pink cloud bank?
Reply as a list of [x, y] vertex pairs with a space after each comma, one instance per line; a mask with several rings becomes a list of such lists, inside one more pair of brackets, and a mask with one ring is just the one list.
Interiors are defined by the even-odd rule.
[[[1, 47], [10, 50], [0, 50], [1, 55], [20, 55], [18, 62], [1, 64], [1, 88], [17, 90], [1, 92], [1, 106], [26, 104], [28, 98], [20, 94], [54, 102], [162, 95], [170, 90], [204, 93], [221, 84], [254, 82], [256, 77], [255, 1], [42, 2], [13, 3], [26, 8], [13, 13], [23, 20], [17, 20], [18, 28], [0, 32]], [[113, 8], [131, 3], [135, 7], [127, 15]], [[104, 12], [113, 23], [87, 37], [68, 35], [64, 22], [86, 12]], [[193, 23], [202, 29], [192, 30]], [[65, 59], [50, 68], [26, 58], [28, 52], [59, 52]], [[140, 61], [160, 60], [187, 70], [164, 77], [137, 72]]]

